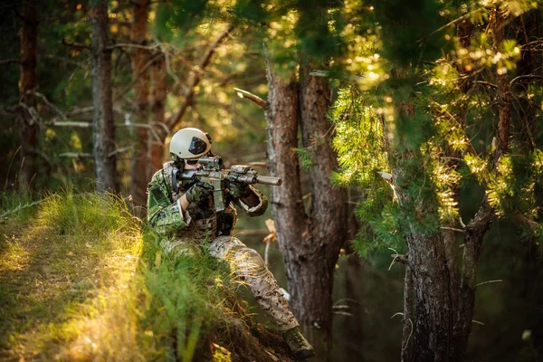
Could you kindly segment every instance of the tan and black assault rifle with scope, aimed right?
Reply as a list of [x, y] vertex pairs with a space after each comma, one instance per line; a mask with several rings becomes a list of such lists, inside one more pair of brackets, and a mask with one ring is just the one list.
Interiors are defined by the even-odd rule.
[[229, 182], [241, 181], [249, 185], [264, 184], [280, 186], [281, 178], [260, 176], [250, 166], [235, 165], [230, 169], [224, 169], [223, 158], [220, 156], [202, 157], [198, 160], [200, 168], [178, 172], [178, 180], [205, 181], [213, 186], [213, 197], [216, 211], [224, 210], [224, 189]]

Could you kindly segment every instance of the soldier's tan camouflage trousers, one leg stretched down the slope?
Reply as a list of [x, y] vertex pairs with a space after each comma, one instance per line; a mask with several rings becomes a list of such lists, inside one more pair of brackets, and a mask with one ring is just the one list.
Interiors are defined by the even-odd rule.
[[[173, 255], [197, 254], [201, 249], [194, 239], [164, 240], [161, 246], [165, 252]], [[230, 269], [244, 281], [252, 292], [266, 317], [280, 332], [298, 326], [298, 320], [289, 310], [289, 304], [266, 268], [260, 254], [248, 248], [233, 236], [219, 236], [209, 243], [209, 253], [215, 258], [224, 260]]]

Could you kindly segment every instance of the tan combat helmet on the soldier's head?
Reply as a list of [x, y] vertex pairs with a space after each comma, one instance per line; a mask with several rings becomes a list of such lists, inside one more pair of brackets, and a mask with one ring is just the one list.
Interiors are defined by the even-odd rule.
[[211, 140], [200, 129], [179, 129], [170, 141], [170, 155], [177, 158], [195, 159], [205, 156], [211, 148]]

